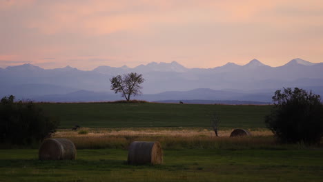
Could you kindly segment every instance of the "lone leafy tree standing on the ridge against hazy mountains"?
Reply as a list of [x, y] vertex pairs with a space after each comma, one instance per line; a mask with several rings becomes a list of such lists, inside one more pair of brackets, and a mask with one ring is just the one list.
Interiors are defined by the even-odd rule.
[[141, 94], [142, 87], [141, 83], [145, 81], [142, 78], [142, 74], [137, 74], [136, 72], [131, 72], [124, 75], [117, 75], [110, 79], [111, 90], [121, 92], [122, 97], [126, 98], [127, 101], [130, 101], [130, 96], [136, 96]]

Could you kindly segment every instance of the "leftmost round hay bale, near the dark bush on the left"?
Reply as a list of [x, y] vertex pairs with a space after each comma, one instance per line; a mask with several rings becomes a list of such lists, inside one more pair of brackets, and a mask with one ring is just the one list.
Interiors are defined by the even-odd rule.
[[46, 139], [39, 148], [40, 160], [75, 159], [76, 148], [68, 139]]

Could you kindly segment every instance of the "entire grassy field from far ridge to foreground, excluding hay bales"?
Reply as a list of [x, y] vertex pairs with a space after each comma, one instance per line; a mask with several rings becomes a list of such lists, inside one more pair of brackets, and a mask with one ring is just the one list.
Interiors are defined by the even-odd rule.
[[[0, 182], [323, 181], [322, 143], [277, 143], [264, 129], [270, 105], [39, 105], [60, 118], [60, 128], [83, 127], [84, 134], [60, 129], [53, 135], [73, 141], [77, 159], [39, 161], [37, 149], [0, 150]], [[212, 112], [221, 119], [221, 137], [210, 135]], [[253, 136], [231, 138], [232, 128], [248, 128]], [[135, 140], [159, 141], [164, 164], [127, 165], [126, 148]]]

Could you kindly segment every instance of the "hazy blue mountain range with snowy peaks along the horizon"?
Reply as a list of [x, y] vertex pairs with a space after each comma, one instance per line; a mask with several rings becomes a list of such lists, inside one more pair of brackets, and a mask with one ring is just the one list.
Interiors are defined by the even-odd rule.
[[[66, 66], [46, 70], [32, 64], [0, 68], [0, 97], [14, 94], [35, 101], [114, 101], [109, 79], [117, 74], [143, 74], [147, 101], [261, 101], [270, 102], [273, 92], [299, 87], [323, 95], [323, 63], [293, 59], [271, 67], [257, 59], [246, 65], [226, 63], [216, 68], [185, 68], [171, 63], [148, 63], [128, 68], [99, 66], [84, 71]], [[74, 98], [74, 99], [73, 99]]]

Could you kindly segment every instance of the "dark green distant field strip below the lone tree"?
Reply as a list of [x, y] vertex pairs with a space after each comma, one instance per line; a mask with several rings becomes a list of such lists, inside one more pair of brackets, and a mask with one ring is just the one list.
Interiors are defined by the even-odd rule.
[[39, 103], [61, 120], [60, 128], [210, 127], [211, 113], [222, 128], [264, 128], [270, 105], [199, 105], [175, 103]]

